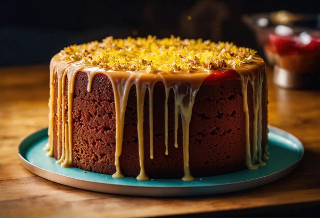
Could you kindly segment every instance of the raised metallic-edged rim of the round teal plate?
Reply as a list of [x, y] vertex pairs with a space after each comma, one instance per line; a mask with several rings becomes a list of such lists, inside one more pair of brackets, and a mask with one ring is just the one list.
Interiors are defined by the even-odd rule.
[[[302, 144], [302, 142], [296, 138], [293, 134], [280, 129], [278, 127], [275, 126], [271, 126], [268, 125], [268, 128], [271, 131], [277, 131], [279, 133], [281, 133], [281, 135], [287, 135], [290, 139], [294, 140], [296, 142], [296, 144], [299, 144], [300, 146], [298, 147], [299, 151], [300, 151], [300, 157], [298, 160], [296, 160], [294, 163], [292, 163], [292, 165], [281, 169], [277, 172], [259, 177], [259, 178], [254, 178], [254, 179], [248, 179], [248, 180], [244, 180], [244, 181], [237, 181], [237, 182], [228, 182], [228, 183], [223, 183], [223, 184], [215, 184], [215, 185], [201, 185], [201, 186], [135, 186], [135, 185], [130, 185], [130, 184], [112, 184], [112, 183], [105, 183], [105, 182], [100, 182], [100, 181], [90, 181], [90, 180], [86, 180], [86, 179], [80, 179], [80, 178], [74, 178], [71, 176], [67, 176], [67, 175], [63, 175], [60, 173], [56, 173], [56, 172], [52, 172], [50, 170], [47, 169], [43, 169], [41, 167], [38, 167], [36, 165], [34, 165], [34, 163], [29, 162], [22, 154], [21, 154], [21, 150], [22, 147], [25, 146], [25, 144], [27, 143], [28, 140], [30, 140], [30, 138], [34, 137], [36, 134], [38, 134], [39, 132], [43, 133], [45, 130], [48, 129], [47, 128], [42, 128], [30, 135], [28, 135], [28, 137], [26, 137], [24, 140], [22, 140], [18, 146], [18, 156], [19, 159], [22, 163], [22, 165], [27, 168], [29, 171], [31, 171], [32, 173], [44, 178], [44, 179], [48, 179], [50, 181], [59, 183], [59, 184], [63, 184], [63, 185], [67, 185], [67, 186], [71, 186], [71, 187], [76, 187], [76, 188], [81, 188], [81, 189], [85, 189], [85, 190], [93, 190], [96, 192], [103, 192], [103, 193], [110, 193], [110, 194], [121, 194], [121, 195], [132, 195], [132, 196], [153, 196], [153, 197], [169, 197], [169, 196], [196, 196], [196, 195], [212, 195], [212, 194], [219, 194], [219, 193], [227, 193], [227, 192], [235, 192], [237, 190], [244, 190], [244, 189], [248, 189], [248, 188], [254, 188], [254, 187], [258, 187], [258, 186], [262, 186], [268, 183], [271, 183], [273, 181], [276, 181], [280, 178], [283, 178], [284, 176], [288, 175], [290, 172], [292, 172], [296, 166], [299, 165], [301, 159], [304, 156], [304, 146]], [[43, 139], [44, 137], [41, 134], [41, 137], [39, 137], [38, 140]], [[48, 175], [46, 175], [48, 174]], [[52, 175], [50, 175], [52, 174]], [[109, 174], [105, 174], [108, 176], [111, 176]], [[56, 178], [55, 178], [56, 177]], [[59, 177], [61, 177], [59, 179]], [[61, 180], [66, 180], [66, 181], [61, 181]], [[157, 179], [158, 181], [159, 179]], [[73, 183], [73, 184], [71, 184]], [[83, 185], [79, 184], [82, 183]], [[238, 186], [243, 185], [246, 186], [247, 183], [253, 183], [252, 185], [249, 185], [248, 187], [245, 188], [239, 188]], [[91, 187], [86, 187], [86, 184], [91, 184]], [[98, 186], [110, 186], [110, 188], [98, 188], [98, 187], [94, 187], [92, 185], [98, 185]], [[200, 192], [200, 194], [197, 194], [199, 192], [197, 192], [198, 189], [208, 189], [208, 188], [213, 188], [213, 189], [224, 189], [226, 186], [230, 186], [230, 185], [234, 185], [236, 186], [236, 188], [231, 189], [230, 191], [225, 191], [222, 190], [221, 192], [209, 192], [209, 193], [203, 193]], [[129, 190], [129, 192], [123, 192], [123, 190], [119, 190], [120, 188], [126, 188]], [[238, 188], [237, 188], [238, 187]], [[130, 189], [136, 189], [136, 191], [130, 191]], [[139, 189], [143, 189], [145, 192], [145, 189], [152, 189], [151, 192], [139, 192]], [[157, 192], [154, 192], [154, 189], [157, 190]], [[164, 192], [164, 189], [167, 190], [167, 192]], [[188, 189], [187, 193], [184, 193], [185, 190], [184, 189]], [[197, 189], [197, 190], [190, 190], [190, 189]], [[161, 190], [161, 193], [158, 193], [158, 190]], [[176, 192], [172, 192], [172, 190], [179, 190], [178, 193]], [[191, 191], [191, 192], [190, 192]], [[153, 192], [153, 193], [152, 193]], [[194, 193], [195, 192], [195, 193]]]

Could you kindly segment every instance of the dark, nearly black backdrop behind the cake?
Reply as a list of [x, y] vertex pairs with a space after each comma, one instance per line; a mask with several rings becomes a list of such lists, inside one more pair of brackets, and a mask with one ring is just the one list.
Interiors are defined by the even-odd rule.
[[[48, 63], [71, 44], [106, 36], [233, 41], [261, 48], [244, 14], [287, 10], [319, 13], [320, 1], [1, 1], [0, 65]], [[189, 19], [188, 19], [188, 16]]]

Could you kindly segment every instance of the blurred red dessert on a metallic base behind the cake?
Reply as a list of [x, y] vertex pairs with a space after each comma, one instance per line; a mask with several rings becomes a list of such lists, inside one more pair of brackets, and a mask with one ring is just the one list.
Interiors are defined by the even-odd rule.
[[303, 88], [319, 86], [319, 32], [300, 35], [270, 34], [264, 46], [269, 63], [275, 64], [275, 83], [281, 87]]

